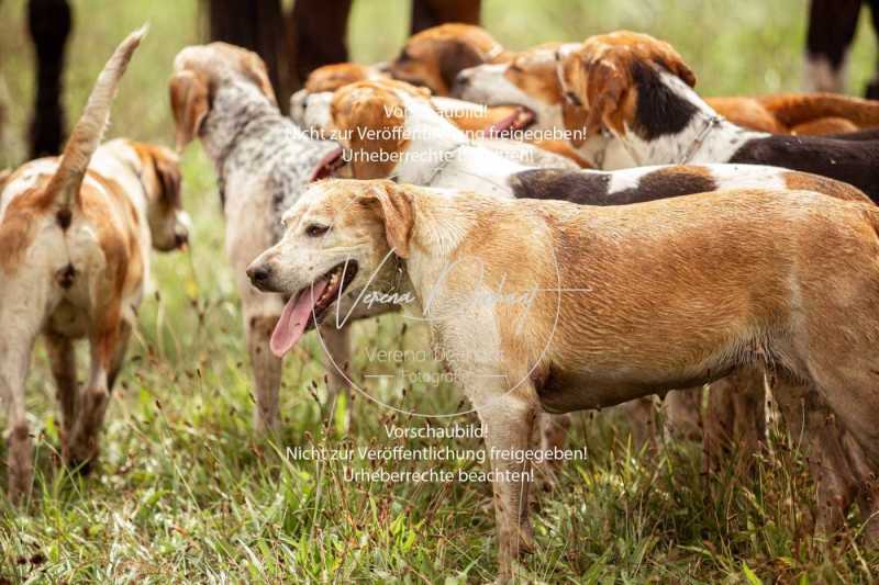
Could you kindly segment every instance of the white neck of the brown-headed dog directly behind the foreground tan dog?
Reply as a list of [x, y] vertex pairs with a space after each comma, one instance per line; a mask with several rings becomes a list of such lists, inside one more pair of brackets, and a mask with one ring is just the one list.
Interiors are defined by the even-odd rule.
[[400, 182], [511, 196], [509, 176], [531, 168], [471, 144], [426, 102], [408, 100], [405, 106], [404, 134], [409, 142], [391, 171]]

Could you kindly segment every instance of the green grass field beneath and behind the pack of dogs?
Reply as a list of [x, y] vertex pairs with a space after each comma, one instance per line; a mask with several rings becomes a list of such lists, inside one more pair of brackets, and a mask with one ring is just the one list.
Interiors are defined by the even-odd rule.
[[[24, 2], [0, 1], [0, 74], [9, 124], [0, 167], [22, 161], [33, 64]], [[174, 55], [201, 38], [194, 0], [76, 0], [65, 103], [80, 111], [115, 43], [144, 21], [151, 33], [114, 106], [110, 136], [169, 143], [166, 82]], [[670, 41], [700, 75], [705, 94], [800, 87], [802, 0], [486, 0], [499, 41], [524, 48], [627, 27]], [[402, 0], [355, 0], [349, 46], [365, 63], [391, 57], [405, 36]], [[876, 58], [861, 31], [852, 59], [857, 91]], [[26, 510], [0, 496], [2, 582], [480, 582], [496, 570], [490, 486], [483, 483], [355, 483], [351, 463], [313, 463], [287, 448], [442, 446], [389, 439], [383, 425], [418, 426], [355, 394], [323, 415], [320, 346], [287, 359], [283, 428], [270, 440], [251, 426], [252, 376], [238, 302], [222, 254], [213, 171], [198, 145], [183, 157], [185, 204], [196, 229], [186, 255], [155, 258], [156, 291], [142, 307], [121, 383], [108, 410], [101, 468], [82, 479], [58, 465], [57, 408], [45, 353], [27, 382], [38, 474]], [[0, 250], [2, 254], [2, 250]], [[397, 317], [355, 327], [355, 347], [424, 347], [424, 331]], [[80, 356], [85, 360], [85, 355]], [[85, 363], [85, 362], [84, 362]], [[372, 372], [363, 351], [355, 376]], [[85, 374], [80, 373], [80, 376]], [[374, 397], [394, 407], [454, 412], [445, 385], [397, 384]], [[347, 412], [346, 412], [347, 410]], [[352, 427], [344, 424], [351, 415]], [[1, 415], [0, 415], [1, 416]], [[456, 419], [472, 423], [472, 415]], [[443, 424], [447, 421], [442, 421]], [[0, 420], [0, 427], [4, 424]], [[879, 555], [860, 548], [857, 525], [825, 542], [809, 536], [812, 485], [797, 446], [774, 434], [772, 458], [753, 477], [732, 465], [700, 475], [698, 446], [669, 442], [655, 455], [627, 446], [619, 415], [578, 417], [571, 445], [585, 463], [563, 468], [560, 485], [534, 514], [538, 553], [522, 566], [535, 582], [875, 582]], [[456, 440], [477, 450], [475, 439]], [[475, 471], [471, 462], [379, 463], [398, 470]], [[706, 481], [710, 480], [710, 481]], [[5, 471], [0, 470], [0, 485]], [[2, 491], [2, 488], [0, 488]]]

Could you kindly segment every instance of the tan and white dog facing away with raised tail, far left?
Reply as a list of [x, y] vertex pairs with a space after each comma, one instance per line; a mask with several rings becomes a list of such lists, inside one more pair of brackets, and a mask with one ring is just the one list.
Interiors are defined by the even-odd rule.
[[[186, 244], [180, 171], [169, 150], [129, 140], [98, 146], [120, 78], [144, 31], [107, 63], [60, 158], [14, 170], [0, 190], [0, 397], [9, 412], [9, 492], [33, 479], [24, 383], [43, 334], [57, 383], [64, 459], [89, 464], [149, 274], [151, 247]], [[74, 341], [91, 348], [77, 385]]]

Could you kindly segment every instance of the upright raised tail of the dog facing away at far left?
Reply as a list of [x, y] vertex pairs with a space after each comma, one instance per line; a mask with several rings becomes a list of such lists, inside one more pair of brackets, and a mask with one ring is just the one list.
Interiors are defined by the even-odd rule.
[[57, 202], [62, 210], [68, 211], [71, 205], [79, 205], [79, 187], [110, 122], [110, 105], [115, 97], [119, 80], [145, 34], [146, 26], [131, 33], [103, 66], [94, 89], [91, 90], [86, 110], [64, 147], [58, 170], [44, 191], [43, 198], [46, 200], [44, 203], [47, 205]]

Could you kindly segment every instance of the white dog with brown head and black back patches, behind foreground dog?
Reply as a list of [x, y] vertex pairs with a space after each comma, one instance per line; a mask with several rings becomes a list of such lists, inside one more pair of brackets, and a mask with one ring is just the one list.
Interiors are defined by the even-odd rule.
[[[555, 199], [586, 205], [625, 205], [656, 199], [732, 188], [809, 189], [844, 200], [869, 202], [854, 187], [823, 177], [752, 165], [642, 167], [603, 172], [537, 169], [508, 160], [467, 139], [444, 120], [419, 90], [399, 82], [365, 81], [335, 92], [327, 130], [337, 132], [352, 154], [352, 176], [358, 179], [394, 177], [401, 182], [469, 189], [501, 198]], [[398, 137], [377, 140], [374, 136]], [[361, 137], [361, 138], [358, 138]], [[411, 139], [407, 139], [411, 137]], [[396, 274], [389, 270], [376, 281], [387, 292]], [[382, 289], [382, 286], [386, 286]], [[365, 314], [365, 306], [345, 307]], [[311, 325], [308, 325], [311, 327]], [[735, 383], [734, 383], [735, 382]], [[754, 452], [763, 431], [763, 374], [739, 373], [714, 386], [706, 417], [705, 465], [713, 468], [721, 451], [734, 442]], [[700, 437], [698, 393], [667, 397], [669, 429]], [[750, 405], [750, 406], [747, 406]], [[636, 441], [653, 432], [652, 401], [634, 406]], [[734, 416], [735, 413], [743, 413]], [[547, 419], [542, 441], [552, 447], [564, 440], [568, 420]], [[738, 430], [735, 430], [738, 429]]]

